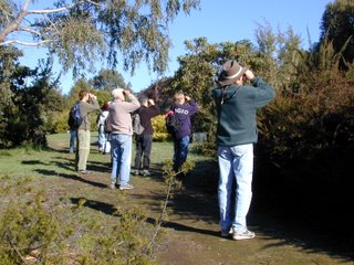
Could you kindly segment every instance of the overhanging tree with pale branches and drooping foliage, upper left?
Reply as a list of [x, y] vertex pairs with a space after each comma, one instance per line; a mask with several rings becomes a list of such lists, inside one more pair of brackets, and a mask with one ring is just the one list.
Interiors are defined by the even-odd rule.
[[43, 45], [74, 75], [93, 70], [102, 57], [114, 67], [119, 54], [125, 70], [134, 72], [144, 60], [149, 70], [163, 73], [171, 45], [169, 24], [180, 11], [198, 8], [199, 1], [58, 0], [46, 2], [49, 8], [31, 9], [37, 1], [20, 6], [1, 0], [0, 45]]

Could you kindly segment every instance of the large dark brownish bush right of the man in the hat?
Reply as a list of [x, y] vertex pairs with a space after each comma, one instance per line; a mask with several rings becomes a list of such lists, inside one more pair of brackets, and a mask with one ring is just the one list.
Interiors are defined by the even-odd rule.
[[343, 73], [322, 72], [298, 94], [278, 93], [260, 112], [258, 152], [273, 179], [264, 189], [301, 194], [309, 203], [354, 203], [354, 84], [343, 80]]

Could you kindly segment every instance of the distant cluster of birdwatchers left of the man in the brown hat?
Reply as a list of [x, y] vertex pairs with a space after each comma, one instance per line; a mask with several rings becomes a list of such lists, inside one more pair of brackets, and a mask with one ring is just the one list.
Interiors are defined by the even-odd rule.
[[[76, 171], [81, 174], [88, 174], [86, 170], [87, 157], [90, 153], [91, 121], [90, 113], [100, 109], [96, 97], [87, 89], [79, 93], [80, 108], [83, 123], [75, 130], [77, 134], [76, 151]], [[154, 128], [152, 118], [160, 114], [159, 107], [154, 99], [142, 97], [139, 100], [129, 89], [115, 88], [112, 91], [112, 102], [101, 107], [101, 114], [97, 117], [98, 126], [98, 150], [103, 153], [111, 153], [111, 182], [110, 188], [119, 190], [134, 189], [129, 183], [132, 145], [133, 145], [133, 123], [132, 114], [139, 115], [140, 124], [144, 127], [142, 134], [136, 135], [136, 153], [134, 159], [133, 173], [135, 176], [150, 176], [150, 152], [153, 146]], [[188, 103], [188, 104], [186, 104]], [[198, 110], [198, 106], [189, 96], [184, 93], [176, 93], [174, 104], [170, 108], [181, 123], [180, 129], [174, 139], [174, 169], [180, 170], [181, 165], [187, 160], [188, 145], [190, 142], [191, 123], [190, 117]], [[107, 135], [105, 124], [108, 123], [111, 131]], [[71, 132], [71, 136], [73, 134]], [[85, 136], [85, 138], [83, 138]], [[107, 139], [110, 138], [110, 139]], [[72, 145], [72, 138], [71, 138]], [[70, 152], [73, 152], [71, 146]]]

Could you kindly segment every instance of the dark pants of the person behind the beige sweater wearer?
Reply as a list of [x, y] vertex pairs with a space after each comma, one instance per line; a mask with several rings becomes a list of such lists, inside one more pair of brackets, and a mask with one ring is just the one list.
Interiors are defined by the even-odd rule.
[[[134, 168], [139, 169], [149, 169], [150, 167], [150, 152], [153, 146], [153, 136], [142, 134], [136, 137], [136, 153], [135, 153], [135, 165]], [[143, 167], [142, 167], [143, 158]]]

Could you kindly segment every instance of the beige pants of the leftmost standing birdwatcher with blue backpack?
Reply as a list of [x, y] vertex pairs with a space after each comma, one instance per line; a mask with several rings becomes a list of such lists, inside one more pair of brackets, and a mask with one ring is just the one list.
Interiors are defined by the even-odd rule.
[[76, 171], [86, 170], [90, 155], [91, 131], [77, 130]]

